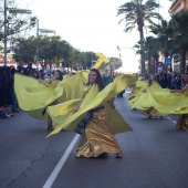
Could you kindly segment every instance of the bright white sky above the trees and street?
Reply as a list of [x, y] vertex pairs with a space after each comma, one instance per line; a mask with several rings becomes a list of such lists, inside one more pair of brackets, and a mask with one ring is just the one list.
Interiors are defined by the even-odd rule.
[[[169, 20], [169, 0], [157, 0], [159, 13]], [[123, 60], [127, 72], [137, 72], [138, 56], [132, 50], [139, 40], [137, 31], [125, 33], [117, 8], [129, 0], [20, 0], [20, 8], [32, 11], [40, 29], [55, 30], [56, 35], [80, 51], [100, 52]], [[23, 7], [24, 4], [24, 7]], [[121, 46], [121, 51], [117, 50]]]

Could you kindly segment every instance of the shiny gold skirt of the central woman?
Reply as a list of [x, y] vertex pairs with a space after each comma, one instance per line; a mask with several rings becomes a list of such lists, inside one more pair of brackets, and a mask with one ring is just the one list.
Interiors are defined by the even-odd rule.
[[97, 157], [104, 153], [119, 154], [121, 147], [106, 123], [106, 109], [94, 112], [81, 136], [76, 157]]

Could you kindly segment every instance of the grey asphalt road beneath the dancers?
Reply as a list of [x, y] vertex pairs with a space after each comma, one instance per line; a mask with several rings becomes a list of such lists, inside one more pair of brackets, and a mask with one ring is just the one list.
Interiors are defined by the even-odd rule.
[[188, 133], [176, 130], [177, 116], [148, 119], [129, 108], [126, 95], [116, 108], [133, 132], [116, 135], [123, 158], [75, 158], [77, 135], [50, 138], [46, 122], [24, 112], [0, 119], [0, 188], [187, 188]]

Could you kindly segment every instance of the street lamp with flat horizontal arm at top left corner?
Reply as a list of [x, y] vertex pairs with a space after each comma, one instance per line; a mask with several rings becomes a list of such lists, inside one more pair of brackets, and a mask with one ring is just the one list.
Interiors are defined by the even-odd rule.
[[27, 9], [13, 9], [7, 7], [7, 0], [4, 0], [4, 65], [7, 66], [7, 35], [8, 35], [8, 27], [7, 27], [7, 11], [10, 13], [25, 13], [30, 14], [31, 10]]

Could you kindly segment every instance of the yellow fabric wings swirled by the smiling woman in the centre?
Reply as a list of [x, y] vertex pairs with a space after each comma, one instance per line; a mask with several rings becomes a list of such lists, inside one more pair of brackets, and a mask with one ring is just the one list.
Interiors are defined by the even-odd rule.
[[113, 116], [111, 117], [111, 122], [108, 122], [114, 134], [132, 130], [118, 112], [116, 112], [116, 109], [111, 109], [109, 106], [107, 106], [107, 101], [115, 97], [121, 91], [125, 90], [134, 82], [136, 82], [136, 77], [133, 75], [119, 75], [97, 95], [98, 88], [97, 85], [94, 84], [84, 97], [80, 109], [74, 114], [73, 109], [81, 100], [72, 100], [55, 106], [49, 106], [48, 114], [50, 114], [52, 119], [59, 125], [48, 135], [48, 137], [58, 134], [62, 128], [74, 132], [75, 126], [84, 117], [86, 112], [101, 105], [105, 105], [106, 111]]

